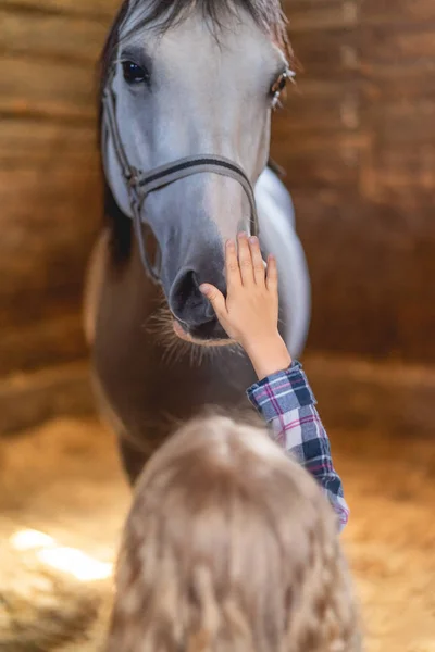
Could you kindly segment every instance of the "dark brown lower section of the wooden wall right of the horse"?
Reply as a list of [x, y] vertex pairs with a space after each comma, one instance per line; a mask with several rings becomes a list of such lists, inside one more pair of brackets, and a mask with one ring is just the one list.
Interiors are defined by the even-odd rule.
[[340, 188], [293, 199], [312, 279], [311, 349], [433, 360], [433, 202], [411, 211]]

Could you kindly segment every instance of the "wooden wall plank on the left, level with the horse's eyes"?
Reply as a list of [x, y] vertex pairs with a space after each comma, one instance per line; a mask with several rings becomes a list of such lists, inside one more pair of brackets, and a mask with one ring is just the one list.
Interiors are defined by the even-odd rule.
[[95, 120], [92, 65], [0, 57], [0, 113]]

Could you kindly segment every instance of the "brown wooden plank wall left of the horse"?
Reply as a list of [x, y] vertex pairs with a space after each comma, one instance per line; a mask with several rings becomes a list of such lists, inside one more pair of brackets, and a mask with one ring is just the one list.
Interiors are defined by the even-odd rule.
[[0, 377], [84, 354], [100, 220], [95, 62], [113, 0], [0, 5]]

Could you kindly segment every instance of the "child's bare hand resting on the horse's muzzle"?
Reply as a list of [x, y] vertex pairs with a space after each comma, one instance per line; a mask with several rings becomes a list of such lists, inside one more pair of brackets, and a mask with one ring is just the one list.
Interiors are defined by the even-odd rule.
[[268, 260], [268, 269], [258, 238], [238, 237], [238, 259], [233, 241], [226, 244], [226, 300], [214, 286], [203, 284], [201, 292], [210, 300], [228, 337], [240, 343], [259, 375], [268, 376], [291, 363], [279, 336], [278, 279], [276, 262]]

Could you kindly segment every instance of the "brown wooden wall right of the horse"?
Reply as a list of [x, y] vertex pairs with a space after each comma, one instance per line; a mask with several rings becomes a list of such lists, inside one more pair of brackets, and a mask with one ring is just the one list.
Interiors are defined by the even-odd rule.
[[313, 283], [311, 349], [435, 361], [435, 2], [286, 0], [276, 116]]

